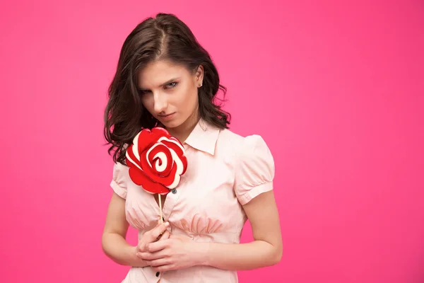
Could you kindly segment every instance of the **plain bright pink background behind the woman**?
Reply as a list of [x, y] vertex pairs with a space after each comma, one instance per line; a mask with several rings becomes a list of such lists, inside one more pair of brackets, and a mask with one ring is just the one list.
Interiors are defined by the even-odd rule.
[[240, 282], [423, 282], [424, 4], [368, 2], [1, 4], [0, 282], [124, 278], [100, 245], [102, 114], [124, 38], [158, 11], [211, 52], [232, 130], [275, 157], [283, 260]]

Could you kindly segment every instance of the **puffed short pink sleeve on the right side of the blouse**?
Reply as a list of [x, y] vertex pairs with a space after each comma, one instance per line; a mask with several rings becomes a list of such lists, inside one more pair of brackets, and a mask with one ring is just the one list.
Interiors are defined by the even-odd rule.
[[275, 166], [273, 156], [259, 135], [245, 137], [237, 154], [235, 195], [245, 205], [254, 197], [273, 189]]

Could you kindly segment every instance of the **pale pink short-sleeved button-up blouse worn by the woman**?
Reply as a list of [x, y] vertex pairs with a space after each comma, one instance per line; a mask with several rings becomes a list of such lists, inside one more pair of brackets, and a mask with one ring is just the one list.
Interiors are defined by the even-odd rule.
[[[247, 221], [242, 208], [262, 192], [273, 189], [274, 163], [259, 135], [241, 137], [199, 120], [184, 142], [187, 171], [170, 192], [163, 217], [170, 232], [194, 241], [240, 243]], [[143, 233], [158, 223], [160, 211], [154, 195], [129, 178], [129, 168], [115, 163], [110, 184], [123, 197], [126, 220]], [[151, 267], [131, 267], [123, 282], [238, 282], [237, 272], [210, 266], [155, 272]]]

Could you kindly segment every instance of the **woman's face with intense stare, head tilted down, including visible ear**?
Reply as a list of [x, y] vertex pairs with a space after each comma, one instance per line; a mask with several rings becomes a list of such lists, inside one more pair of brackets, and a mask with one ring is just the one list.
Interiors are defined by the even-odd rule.
[[148, 112], [167, 128], [175, 128], [199, 117], [198, 90], [203, 67], [193, 74], [182, 65], [160, 60], [139, 73], [139, 93]]

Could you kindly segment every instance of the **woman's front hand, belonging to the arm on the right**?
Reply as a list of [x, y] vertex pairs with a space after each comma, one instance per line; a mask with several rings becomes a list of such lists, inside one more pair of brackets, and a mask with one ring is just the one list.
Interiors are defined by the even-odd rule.
[[153, 267], [156, 272], [179, 270], [202, 265], [207, 243], [197, 243], [191, 238], [170, 236], [170, 238], [149, 243], [148, 252], [139, 253], [139, 257]]

